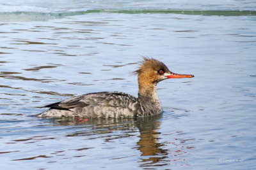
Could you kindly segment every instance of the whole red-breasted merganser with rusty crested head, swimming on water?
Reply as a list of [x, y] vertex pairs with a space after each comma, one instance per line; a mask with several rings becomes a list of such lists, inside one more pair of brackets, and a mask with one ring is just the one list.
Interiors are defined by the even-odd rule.
[[144, 58], [138, 70], [138, 98], [122, 92], [96, 92], [71, 97], [49, 104], [38, 117], [145, 117], [162, 113], [156, 85], [167, 78], [192, 78], [192, 74], [176, 74], [163, 62]]

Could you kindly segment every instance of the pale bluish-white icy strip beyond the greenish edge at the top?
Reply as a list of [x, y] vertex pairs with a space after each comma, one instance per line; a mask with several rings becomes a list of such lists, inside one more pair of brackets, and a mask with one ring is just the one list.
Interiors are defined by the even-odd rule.
[[158, 9], [158, 10], [255, 10], [254, 0], [215, 0], [215, 1], [189, 1], [189, 0], [138, 0], [138, 1], [111, 1], [111, 0], [13, 0], [2, 1], [1, 11], [82, 11], [102, 9]]

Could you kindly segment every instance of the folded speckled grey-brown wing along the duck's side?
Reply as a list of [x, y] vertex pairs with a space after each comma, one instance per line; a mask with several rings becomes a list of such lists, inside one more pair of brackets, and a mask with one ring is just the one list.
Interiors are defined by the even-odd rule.
[[136, 116], [141, 111], [136, 97], [122, 92], [98, 92], [49, 104], [50, 110], [69, 110], [81, 117]]

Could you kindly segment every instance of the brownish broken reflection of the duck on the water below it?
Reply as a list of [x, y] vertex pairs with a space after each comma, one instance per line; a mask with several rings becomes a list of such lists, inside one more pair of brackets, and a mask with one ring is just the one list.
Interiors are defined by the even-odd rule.
[[[88, 136], [88, 138], [104, 138], [104, 141], [113, 141], [120, 138], [129, 138], [134, 136], [134, 129], [139, 129], [139, 140], [136, 149], [140, 150], [141, 156], [150, 155], [167, 155], [166, 150], [162, 149], [163, 144], [159, 143], [159, 132], [161, 122], [159, 119], [163, 115], [155, 115], [150, 117], [138, 117], [138, 118], [92, 118], [86, 122], [80, 122], [73, 118], [61, 118], [56, 119], [56, 123], [59, 125], [92, 125], [86, 126], [84, 131], [79, 129], [78, 132], [72, 132], [67, 136]], [[90, 129], [92, 128], [92, 129]], [[91, 131], [93, 130], [93, 131]], [[125, 133], [119, 133], [116, 135], [115, 131], [124, 131]], [[131, 132], [131, 134], [130, 134]], [[100, 134], [100, 136], [99, 136]], [[106, 134], [103, 137], [102, 134]], [[158, 159], [157, 159], [158, 160]], [[147, 161], [147, 160], [146, 160]]]

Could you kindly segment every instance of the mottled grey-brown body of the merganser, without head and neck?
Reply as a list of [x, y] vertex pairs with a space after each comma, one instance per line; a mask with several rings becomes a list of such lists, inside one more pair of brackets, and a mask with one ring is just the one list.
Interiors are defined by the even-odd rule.
[[140, 117], [162, 112], [159, 99], [141, 101], [122, 92], [84, 94], [45, 107], [51, 109], [38, 117]]

